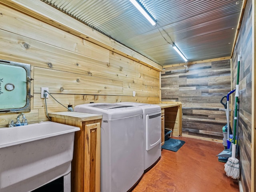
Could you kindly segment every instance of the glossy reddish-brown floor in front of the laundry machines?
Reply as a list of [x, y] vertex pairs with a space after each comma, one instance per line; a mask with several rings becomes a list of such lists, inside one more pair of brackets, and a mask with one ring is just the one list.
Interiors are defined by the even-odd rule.
[[186, 143], [177, 152], [162, 150], [159, 162], [132, 192], [239, 192], [238, 180], [226, 176], [225, 163], [216, 157], [224, 149], [221, 143], [177, 139]]

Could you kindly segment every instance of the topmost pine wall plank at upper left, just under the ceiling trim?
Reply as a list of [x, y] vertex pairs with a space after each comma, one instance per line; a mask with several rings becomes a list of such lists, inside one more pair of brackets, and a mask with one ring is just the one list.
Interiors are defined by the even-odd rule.
[[[58, 28], [52, 28], [52, 26], [42, 21], [31, 20], [30, 16], [20, 18], [20, 13], [14, 12], [11, 8], [7, 8], [3, 5], [0, 5], [0, 10], [2, 13], [1, 28], [3, 30], [14, 32], [24, 37], [29, 36], [36, 41], [45, 42], [55, 47], [108, 62], [109, 51], [105, 48], [66, 33]], [[9, 22], [10, 20], [12, 22]], [[17, 26], [19, 26], [19, 28], [17, 28]], [[49, 32], [53, 35], [49, 35]], [[65, 38], [65, 41], [63, 41], [63, 38]]]

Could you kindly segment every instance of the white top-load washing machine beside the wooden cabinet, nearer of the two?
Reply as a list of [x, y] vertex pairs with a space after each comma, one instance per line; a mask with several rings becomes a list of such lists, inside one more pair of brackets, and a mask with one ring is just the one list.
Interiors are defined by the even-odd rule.
[[101, 192], [126, 192], [144, 173], [143, 110], [110, 103], [77, 105], [76, 112], [102, 114]]

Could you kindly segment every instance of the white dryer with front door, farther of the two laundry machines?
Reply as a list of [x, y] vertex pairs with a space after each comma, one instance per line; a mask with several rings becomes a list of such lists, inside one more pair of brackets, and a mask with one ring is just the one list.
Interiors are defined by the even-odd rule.
[[153, 104], [119, 102], [138, 106], [144, 113], [144, 170], [153, 166], [161, 156], [161, 107]]

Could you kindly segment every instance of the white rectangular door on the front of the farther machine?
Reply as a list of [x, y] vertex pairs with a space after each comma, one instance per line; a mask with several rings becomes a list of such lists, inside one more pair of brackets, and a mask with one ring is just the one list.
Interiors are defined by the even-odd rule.
[[161, 142], [161, 113], [146, 115], [146, 151]]

